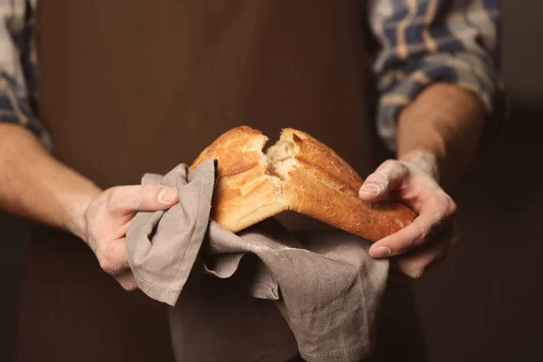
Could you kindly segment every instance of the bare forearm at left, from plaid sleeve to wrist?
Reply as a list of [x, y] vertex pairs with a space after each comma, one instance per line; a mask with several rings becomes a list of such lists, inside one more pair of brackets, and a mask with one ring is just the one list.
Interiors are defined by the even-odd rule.
[[0, 208], [81, 236], [100, 188], [54, 159], [28, 130], [0, 124]]

